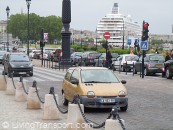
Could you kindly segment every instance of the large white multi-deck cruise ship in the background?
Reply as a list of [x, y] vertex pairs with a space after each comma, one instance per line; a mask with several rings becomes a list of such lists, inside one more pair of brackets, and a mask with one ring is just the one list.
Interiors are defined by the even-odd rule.
[[135, 39], [140, 39], [141, 37], [141, 25], [134, 22], [130, 15], [119, 13], [118, 3], [114, 3], [112, 13], [107, 14], [97, 24], [97, 41], [103, 40], [103, 34], [108, 31], [111, 35], [110, 39], [108, 39], [109, 45], [113, 47], [122, 47], [123, 45], [126, 47], [130, 45], [133, 47]]

